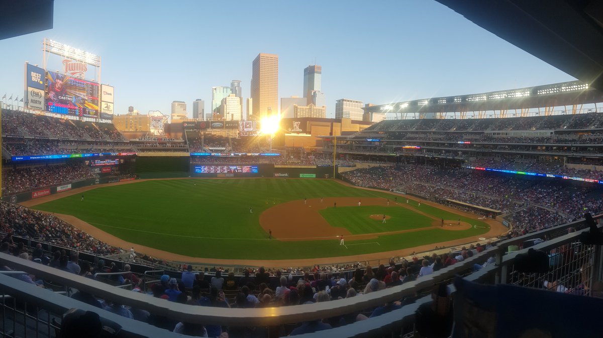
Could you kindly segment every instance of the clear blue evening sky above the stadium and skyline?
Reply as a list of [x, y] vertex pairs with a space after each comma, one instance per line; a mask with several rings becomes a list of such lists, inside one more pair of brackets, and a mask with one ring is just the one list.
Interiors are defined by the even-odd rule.
[[44, 37], [102, 57], [116, 114], [169, 114], [180, 100], [192, 116], [194, 99], [207, 111], [211, 87], [230, 80], [248, 97], [259, 52], [279, 55], [279, 98], [302, 96], [303, 69], [323, 66], [327, 117], [341, 98], [386, 104], [575, 80], [431, 0], [57, 0], [52, 30], [0, 40], [0, 97], [22, 97], [23, 64], [42, 64]]

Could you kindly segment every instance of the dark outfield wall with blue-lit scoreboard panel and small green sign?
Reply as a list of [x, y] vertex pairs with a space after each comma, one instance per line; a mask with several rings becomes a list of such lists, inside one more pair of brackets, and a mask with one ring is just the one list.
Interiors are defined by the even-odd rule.
[[[222, 169], [219, 169], [221, 167]], [[200, 172], [224, 170], [223, 167], [240, 167], [233, 172]], [[292, 166], [271, 163], [229, 166], [227, 164], [190, 164], [191, 177], [275, 177], [275, 178], [333, 178], [333, 167]]]

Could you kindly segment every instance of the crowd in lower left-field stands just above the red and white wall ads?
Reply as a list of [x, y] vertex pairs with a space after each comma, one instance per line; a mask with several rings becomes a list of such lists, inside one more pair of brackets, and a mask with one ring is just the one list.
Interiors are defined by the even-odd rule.
[[2, 195], [13, 195], [94, 177], [95, 174], [83, 163], [5, 169], [2, 171]]

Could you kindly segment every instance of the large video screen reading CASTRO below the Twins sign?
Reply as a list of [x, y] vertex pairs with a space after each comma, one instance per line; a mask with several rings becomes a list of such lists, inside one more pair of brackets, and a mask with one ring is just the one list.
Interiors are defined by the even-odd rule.
[[46, 111], [98, 117], [98, 83], [46, 72]]

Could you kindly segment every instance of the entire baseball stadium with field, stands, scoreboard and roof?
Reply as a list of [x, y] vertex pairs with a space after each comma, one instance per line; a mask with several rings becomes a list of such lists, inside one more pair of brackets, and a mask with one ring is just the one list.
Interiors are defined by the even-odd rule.
[[44, 38], [0, 106], [2, 337], [600, 336], [601, 16], [437, 2], [577, 80], [361, 119], [245, 118], [233, 80], [209, 118], [114, 114], [101, 57]]

